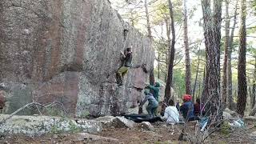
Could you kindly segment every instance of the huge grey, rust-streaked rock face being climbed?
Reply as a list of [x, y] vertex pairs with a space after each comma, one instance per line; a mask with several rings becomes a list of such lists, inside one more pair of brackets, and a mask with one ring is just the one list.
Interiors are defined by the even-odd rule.
[[[152, 68], [154, 50], [107, 0], [2, 0], [0, 15], [6, 113], [33, 100], [62, 102], [69, 114], [94, 116], [137, 105], [148, 78], [139, 66]], [[127, 46], [133, 46], [133, 68], [117, 86], [120, 50]]]

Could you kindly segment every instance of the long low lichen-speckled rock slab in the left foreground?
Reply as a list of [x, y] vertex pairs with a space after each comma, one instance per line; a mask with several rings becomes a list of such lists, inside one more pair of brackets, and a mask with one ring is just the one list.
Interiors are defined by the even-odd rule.
[[[8, 117], [9, 115], [1, 114], [0, 122]], [[25, 134], [28, 136], [74, 132], [96, 134], [101, 131], [101, 122], [95, 120], [73, 120], [47, 116], [13, 116], [0, 124], [0, 134]]]

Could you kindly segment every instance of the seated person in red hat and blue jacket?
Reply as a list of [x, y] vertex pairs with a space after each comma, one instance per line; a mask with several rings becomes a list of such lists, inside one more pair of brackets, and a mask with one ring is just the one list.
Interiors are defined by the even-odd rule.
[[182, 116], [186, 121], [194, 121], [194, 104], [191, 102], [192, 97], [190, 94], [183, 96], [183, 104], [180, 108]]

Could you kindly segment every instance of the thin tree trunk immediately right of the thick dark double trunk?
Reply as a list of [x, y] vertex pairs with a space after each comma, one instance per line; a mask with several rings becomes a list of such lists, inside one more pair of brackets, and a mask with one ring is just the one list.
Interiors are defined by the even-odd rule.
[[226, 67], [230, 47], [230, 15], [229, 15], [229, 0], [225, 0], [226, 18], [225, 18], [225, 42], [224, 42], [224, 62], [222, 74], [222, 105], [226, 107]]

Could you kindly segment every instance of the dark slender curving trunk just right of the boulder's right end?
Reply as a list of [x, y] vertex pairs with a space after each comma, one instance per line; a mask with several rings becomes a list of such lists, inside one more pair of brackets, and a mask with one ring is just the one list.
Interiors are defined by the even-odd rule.
[[[174, 68], [174, 54], [175, 54], [175, 30], [174, 30], [174, 10], [173, 5], [170, 0], [169, 2], [169, 11], [170, 11], [170, 29], [172, 34], [171, 46], [170, 46], [170, 57], [169, 57], [169, 66], [168, 66], [168, 76], [166, 82], [166, 90], [165, 90], [165, 102], [168, 103], [170, 98], [172, 97], [171, 94], [171, 84], [173, 79], [173, 68]], [[162, 112], [165, 110], [165, 105], [162, 105]]]

